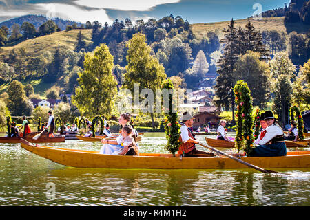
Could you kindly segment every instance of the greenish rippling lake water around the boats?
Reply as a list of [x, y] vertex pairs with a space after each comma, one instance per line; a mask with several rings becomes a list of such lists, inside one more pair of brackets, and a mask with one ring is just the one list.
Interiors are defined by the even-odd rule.
[[[44, 145], [101, 148], [81, 140]], [[167, 153], [164, 133], [145, 133], [140, 147], [143, 153]], [[0, 206], [310, 206], [310, 169], [280, 171], [291, 175], [251, 169], [70, 168], [20, 144], [0, 144]]]

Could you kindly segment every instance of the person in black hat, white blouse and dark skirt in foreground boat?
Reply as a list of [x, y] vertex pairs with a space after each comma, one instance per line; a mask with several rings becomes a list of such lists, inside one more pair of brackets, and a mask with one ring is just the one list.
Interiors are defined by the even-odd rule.
[[248, 155], [249, 157], [280, 157], [287, 155], [287, 146], [285, 145], [284, 133], [282, 128], [276, 124], [272, 111], [266, 111], [265, 122], [267, 123], [267, 132], [258, 142], [258, 146]]

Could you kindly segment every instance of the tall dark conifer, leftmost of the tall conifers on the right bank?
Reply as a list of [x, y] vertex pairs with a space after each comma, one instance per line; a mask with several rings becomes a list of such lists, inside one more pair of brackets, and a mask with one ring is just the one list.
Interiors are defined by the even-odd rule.
[[228, 25], [225, 30], [225, 38], [220, 42], [225, 44], [223, 56], [218, 61], [218, 74], [216, 78], [216, 106], [229, 109], [231, 107], [233, 113], [233, 122], [235, 121], [235, 98], [234, 98], [234, 65], [238, 60], [238, 36], [236, 28], [234, 28], [234, 19]]

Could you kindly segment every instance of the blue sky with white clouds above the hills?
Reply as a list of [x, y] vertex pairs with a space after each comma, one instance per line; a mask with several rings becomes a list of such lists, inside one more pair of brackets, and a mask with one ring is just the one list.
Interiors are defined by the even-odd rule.
[[289, 0], [0, 0], [0, 22], [26, 14], [70, 21], [161, 19], [173, 14], [189, 23], [245, 19], [257, 12], [282, 8]]

